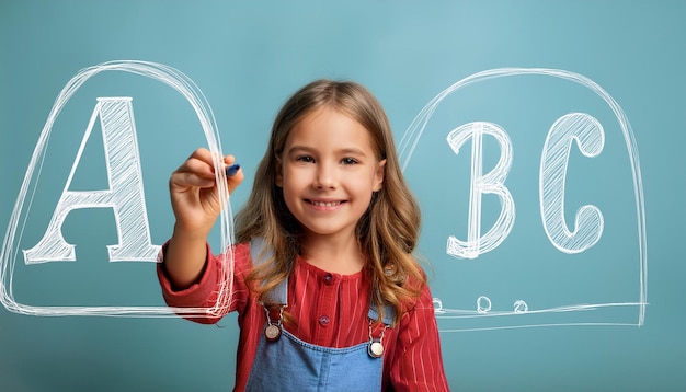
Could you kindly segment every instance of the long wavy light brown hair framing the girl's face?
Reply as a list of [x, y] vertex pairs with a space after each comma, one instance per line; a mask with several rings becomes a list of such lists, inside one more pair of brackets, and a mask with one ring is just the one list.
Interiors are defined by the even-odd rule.
[[[264, 300], [265, 293], [293, 272], [296, 256], [301, 254], [299, 238], [304, 231], [286, 207], [282, 188], [276, 186], [276, 174], [295, 124], [322, 106], [362, 124], [371, 135], [377, 159], [386, 160], [381, 189], [374, 194], [355, 233], [367, 257], [365, 272], [371, 283], [371, 300], [393, 309], [395, 324], [402, 316], [403, 304], [416, 298], [425, 284], [413, 255], [421, 216], [402, 175], [386, 113], [376, 97], [355, 82], [313, 81], [298, 90], [278, 112], [250, 198], [236, 217], [237, 242], [262, 237], [273, 252], [273, 260], [254, 267], [247, 280], [259, 299]], [[382, 313], [382, 307], [378, 308]]]

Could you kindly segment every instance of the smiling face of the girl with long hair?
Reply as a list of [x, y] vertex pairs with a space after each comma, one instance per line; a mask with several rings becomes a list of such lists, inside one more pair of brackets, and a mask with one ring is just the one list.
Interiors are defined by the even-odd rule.
[[384, 182], [386, 160], [377, 160], [369, 131], [321, 107], [296, 123], [279, 158], [276, 185], [308, 235], [354, 238]]

